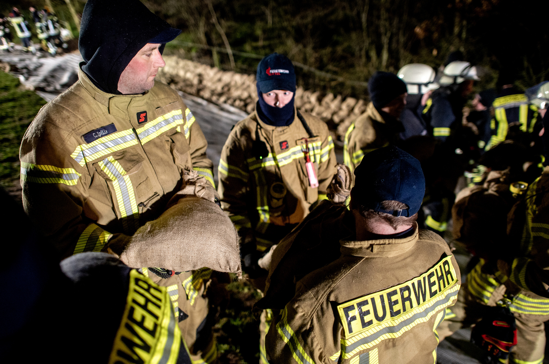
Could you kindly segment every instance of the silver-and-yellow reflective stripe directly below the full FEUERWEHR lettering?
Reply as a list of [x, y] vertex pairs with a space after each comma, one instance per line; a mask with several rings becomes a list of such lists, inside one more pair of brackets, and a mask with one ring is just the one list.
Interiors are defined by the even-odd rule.
[[395, 339], [409, 331], [419, 323], [428, 322], [439, 310], [446, 309], [456, 299], [460, 285], [455, 284], [446, 291], [435, 295], [426, 305], [418, 306], [406, 312], [397, 320], [390, 320], [386, 325], [376, 326], [350, 339], [341, 339], [341, 354], [343, 359], [349, 359], [362, 350], [368, 350], [385, 339]]

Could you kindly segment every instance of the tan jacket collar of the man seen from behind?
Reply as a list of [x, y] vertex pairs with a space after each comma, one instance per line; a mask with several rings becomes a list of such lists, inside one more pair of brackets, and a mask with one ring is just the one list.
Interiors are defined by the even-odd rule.
[[347, 241], [341, 240], [341, 254], [355, 257], [395, 257], [410, 250], [418, 240], [418, 226], [414, 223], [414, 233], [407, 237], [392, 239]]

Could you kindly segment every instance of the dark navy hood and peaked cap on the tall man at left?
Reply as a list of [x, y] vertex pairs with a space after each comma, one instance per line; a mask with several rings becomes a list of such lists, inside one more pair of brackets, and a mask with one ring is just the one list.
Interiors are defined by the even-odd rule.
[[88, 0], [78, 41], [82, 71], [99, 89], [120, 95], [122, 71], [150, 39], [170, 29], [138, 0]]

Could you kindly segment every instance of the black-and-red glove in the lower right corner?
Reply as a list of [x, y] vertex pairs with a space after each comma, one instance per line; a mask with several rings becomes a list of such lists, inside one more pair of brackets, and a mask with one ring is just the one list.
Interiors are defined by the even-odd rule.
[[491, 308], [471, 332], [471, 343], [486, 352], [485, 363], [501, 363], [517, 345], [517, 325], [507, 307]]

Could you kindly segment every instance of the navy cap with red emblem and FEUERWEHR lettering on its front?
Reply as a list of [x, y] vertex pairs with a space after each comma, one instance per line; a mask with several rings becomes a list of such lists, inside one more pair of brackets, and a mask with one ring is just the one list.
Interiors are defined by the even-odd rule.
[[257, 65], [257, 87], [266, 94], [272, 90], [295, 92], [295, 70], [292, 61], [285, 55], [272, 53]]

